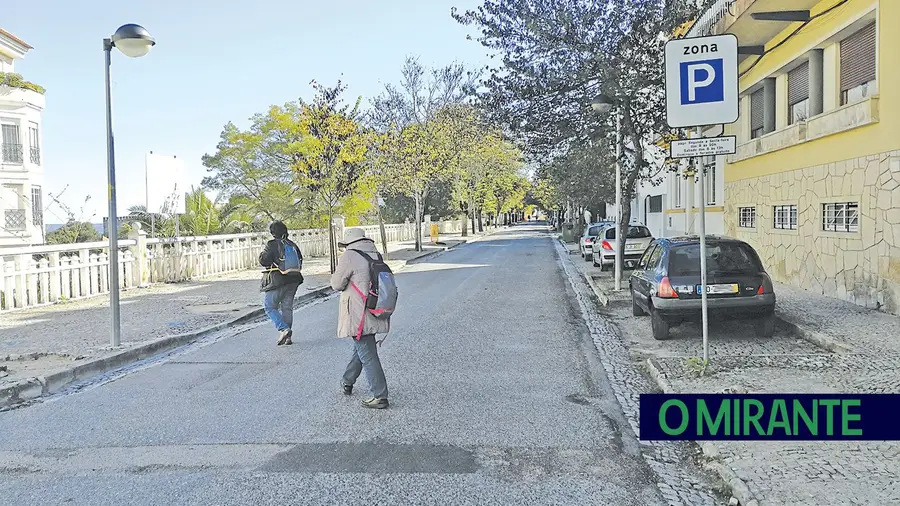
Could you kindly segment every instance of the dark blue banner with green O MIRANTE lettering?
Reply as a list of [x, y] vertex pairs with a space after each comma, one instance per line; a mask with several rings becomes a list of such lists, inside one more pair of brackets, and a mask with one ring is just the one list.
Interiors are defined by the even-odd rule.
[[642, 441], [900, 440], [898, 394], [642, 394]]

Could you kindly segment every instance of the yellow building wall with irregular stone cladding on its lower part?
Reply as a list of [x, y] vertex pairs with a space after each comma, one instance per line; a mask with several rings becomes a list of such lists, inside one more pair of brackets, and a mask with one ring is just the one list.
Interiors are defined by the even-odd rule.
[[[812, 14], [837, 2], [825, 0]], [[747, 72], [741, 91], [780, 74], [785, 65], [873, 9], [878, 23], [878, 98], [873, 101], [878, 121], [726, 163], [725, 232], [753, 245], [777, 281], [900, 314], [900, 0], [851, 0], [811, 22]], [[837, 46], [829, 46], [824, 54], [825, 115], [843, 110], [838, 60]], [[779, 108], [783, 105], [779, 102]], [[844, 116], [840, 121], [847, 120]], [[728, 130], [746, 133], [745, 119]], [[777, 130], [773, 137], [778, 137]], [[745, 140], [743, 136], [739, 143]], [[764, 137], [759, 145], [766, 142], [772, 143]], [[823, 231], [822, 206], [829, 202], [858, 202], [859, 232]], [[797, 230], [774, 229], [772, 207], [779, 204], [797, 206]], [[756, 228], [738, 227], [741, 207], [756, 208]]]

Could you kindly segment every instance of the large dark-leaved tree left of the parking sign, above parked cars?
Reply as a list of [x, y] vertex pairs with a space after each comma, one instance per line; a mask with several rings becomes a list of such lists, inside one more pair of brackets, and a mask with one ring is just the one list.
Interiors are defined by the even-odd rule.
[[[624, 205], [618, 216], [624, 235], [627, 203], [638, 181], [657, 169], [647, 148], [668, 132], [663, 35], [710, 2], [486, 0], [453, 16], [480, 28], [481, 44], [503, 62], [490, 69], [479, 102], [533, 156], [548, 162], [574, 146], [613, 139], [621, 117]], [[615, 113], [605, 118], [588, 107], [601, 93], [615, 103]]]

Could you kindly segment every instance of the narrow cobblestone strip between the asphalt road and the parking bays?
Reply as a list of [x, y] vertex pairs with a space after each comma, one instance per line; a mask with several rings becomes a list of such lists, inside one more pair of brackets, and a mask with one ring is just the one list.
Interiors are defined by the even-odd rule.
[[[658, 389], [652, 380], [640, 372], [641, 365], [629, 353], [628, 343], [616, 322], [598, 311], [593, 292], [581, 275], [584, 262], [575, 255], [566, 255], [567, 250], [562, 245], [557, 246], [557, 251], [616, 398], [634, 434], [638, 435], [640, 394]], [[657, 486], [669, 504], [694, 506], [725, 503], [718, 491], [721, 488], [718, 480], [695, 465], [692, 455], [696, 447], [693, 444], [641, 441], [640, 445], [644, 459], [659, 477]]]

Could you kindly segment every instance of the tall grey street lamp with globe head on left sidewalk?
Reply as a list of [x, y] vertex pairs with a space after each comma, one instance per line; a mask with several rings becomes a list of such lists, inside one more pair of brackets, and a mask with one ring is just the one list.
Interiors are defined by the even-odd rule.
[[121, 318], [119, 314], [119, 219], [116, 216], [116, 155], [112, 134], [112, 97], [110, 94], [109, 67], [112, 48], [117, 48], [130, 58], [139, 58], [150, 52], [156, 44], [144, 27], [135, 24], [122, 25], [108, 39], [103, 39], [106, 55], [106, 168], [109, 180], [109, 307], [112, 311], [110, 344], [117, 347], [122, 342]]

